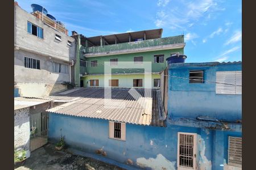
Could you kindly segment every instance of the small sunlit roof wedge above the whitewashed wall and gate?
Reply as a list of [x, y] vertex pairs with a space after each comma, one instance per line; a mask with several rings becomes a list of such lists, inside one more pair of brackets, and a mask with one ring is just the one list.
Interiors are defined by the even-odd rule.
[[31, 107], [34, 105], [47, 103], [51, 100], [46, 99], [32, 99], [32, 98], [25, 98], [25, 97], [14, 97], [14, 111], [22, 108]]

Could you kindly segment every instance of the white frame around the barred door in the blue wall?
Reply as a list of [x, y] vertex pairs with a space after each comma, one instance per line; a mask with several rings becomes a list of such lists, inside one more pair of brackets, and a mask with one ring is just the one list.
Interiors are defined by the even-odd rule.
[[[193, 167], [184, 167], [180, 165], [180, 134], [193, 135]], [[196, 154], [197, 154], [197, 134], [196, 133], [177, 133], [177, 170], [196, 169]]]

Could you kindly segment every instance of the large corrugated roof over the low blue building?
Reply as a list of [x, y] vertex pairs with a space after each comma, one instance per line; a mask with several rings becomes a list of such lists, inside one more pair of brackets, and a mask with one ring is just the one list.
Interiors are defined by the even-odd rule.
[[[104, 99], [104, 88], [80, 88], [70, 93], [49, 96], [68, 102], [48, 109], [47, 112], [138, 125], [165, 126], [166, 113], [159, 113], [159, 105], [162, 104], [158, 102], [159, 90], [137, 90], [141, 95], [138, 100], [129, 94], [129, 89], [114, 88], [111, 92], [111, 99]], [[152, 92], [152, 96], [145, 97], [149, 92]], [[162, 109], [160, 111], [164, 112]]]

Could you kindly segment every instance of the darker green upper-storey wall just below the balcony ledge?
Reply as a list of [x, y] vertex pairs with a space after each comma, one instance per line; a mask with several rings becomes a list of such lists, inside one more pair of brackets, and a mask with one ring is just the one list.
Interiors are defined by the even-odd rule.
[[[143, 56], [143, 61], [150, 61], [152, 62], [152, 72], [160, 72], [164, 70], [167, 66], [166, 58], [170, 57], [171, 53], [184, 54], [184, 48], [180, 49], [171, 49], [171, 50], [158, 50], [154, 52], [141, 52], [141, 53], [130, 53], [130, 54], [118, 54], [112, 56], [100, 56], [100, 57], [88, 57], [85, 58], [87, 63], [86, 72], [88, 74], [104, 74], [104, 62], [110, 61], [111, 58], [118, 58], [119, 61], [134, 61], [134, 57]], [[164, 63], [154, 63], [154, 55], [156, 54], [164, 54]], [[90, 67], [90, 61], [97, 60], [98, 66], [97, 67]], [[122, 69], [115, 69], [114, 72], [123, 73]], [[139, 71], [129, 71], [131, 73], [138, 73]], [[126, 73], [128, 71], [126, 70]]]

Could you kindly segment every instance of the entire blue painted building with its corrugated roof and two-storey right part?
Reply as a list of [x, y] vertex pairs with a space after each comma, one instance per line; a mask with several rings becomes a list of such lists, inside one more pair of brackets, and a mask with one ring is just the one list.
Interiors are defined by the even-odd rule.
[[100, 88], [51, 96], [67, 103], [48, 110], [49, 141], [61, 133], [69, 148], [135, 168], [241, 169], [241, 65], [169, 65], [167, 114], [157, 90], [145, 99], [152, 109], [121, 89], [112, 99], [123, 108], [104, 108]]

